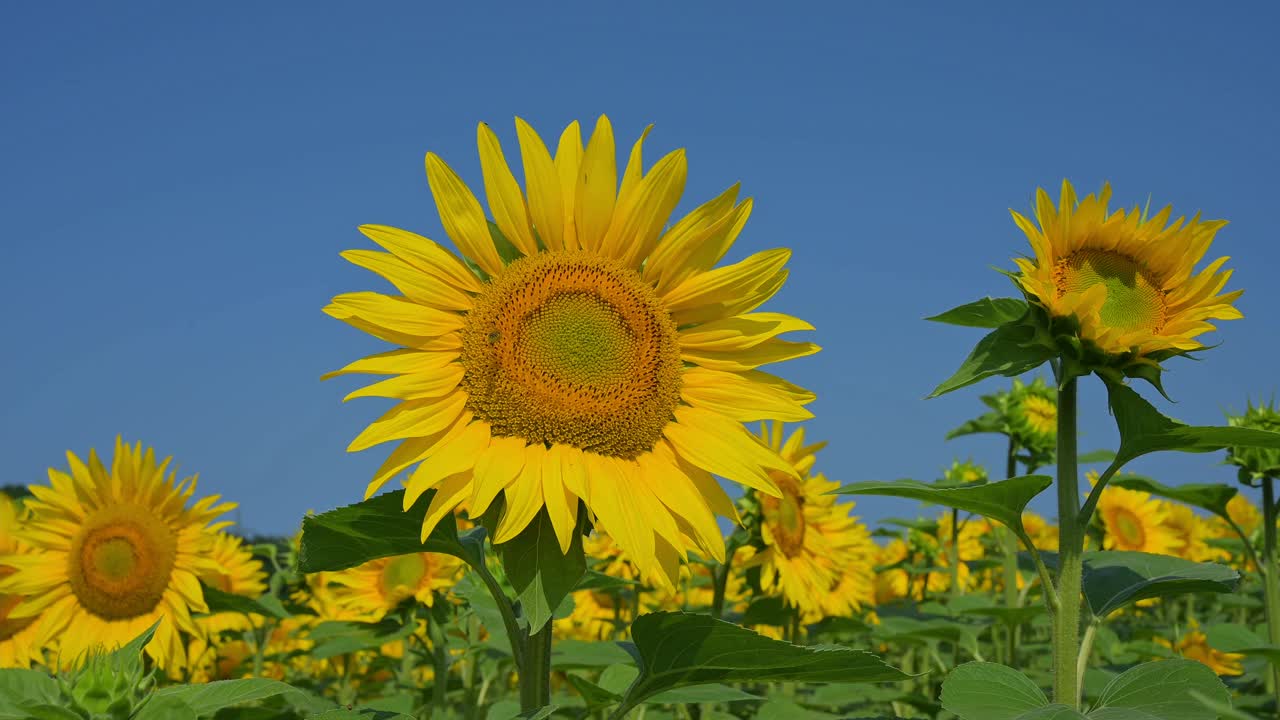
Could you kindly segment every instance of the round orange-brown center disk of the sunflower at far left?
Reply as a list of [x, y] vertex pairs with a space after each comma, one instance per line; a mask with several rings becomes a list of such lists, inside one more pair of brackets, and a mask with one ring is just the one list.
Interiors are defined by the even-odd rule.
[[160, 603], [175, 560], [177, 538], [164, 521], [141, 507], [114, 506], [72, 541], [72, 592], [100, 618], [136, 618]]

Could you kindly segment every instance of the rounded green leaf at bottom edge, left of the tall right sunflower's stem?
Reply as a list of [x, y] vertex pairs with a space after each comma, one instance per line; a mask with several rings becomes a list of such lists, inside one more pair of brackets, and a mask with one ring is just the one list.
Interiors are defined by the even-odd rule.
[[1016, 720], [1046, 705], [1030, 678], [996, 662], [966, 662], [942, 683], [942, 707], [963, 720]]

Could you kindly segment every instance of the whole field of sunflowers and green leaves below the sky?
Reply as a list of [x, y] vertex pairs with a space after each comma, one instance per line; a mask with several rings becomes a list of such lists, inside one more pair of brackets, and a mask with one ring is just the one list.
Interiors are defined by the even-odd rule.
[[[362, 497], [243, 537], [140, 438], [5, 488], [0, 720], [1280, 716], [1280, 410], [1143, 396], [1242, 318], [1224, 220], [1039, 190], [1009, 297], [929, 318], [986, 333], [933, 397], [1004, 383], [932, 441], [1005, 466], [837, 480], [785, 379], [820, 340], [771, 304], [790, 251], [724, 261], [751, 199], [676, 217], [685, 151], [620, 152], [607, 117], [515, 131], [479, 126], [483, 188], [426, 155], [452, 249], [364, 225], [343, 252], [379, 290], [324, 313], [385, 351], [325, 378], [394, 401], [346, 448], [389, 452]], [[1083, 383], [1116, 447], [1080, 447]], [[1231, 470], [1125, 470], [1155, 452]]]

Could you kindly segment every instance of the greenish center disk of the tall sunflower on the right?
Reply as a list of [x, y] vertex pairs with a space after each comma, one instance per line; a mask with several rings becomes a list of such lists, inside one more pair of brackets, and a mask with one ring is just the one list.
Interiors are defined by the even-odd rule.
[[1059, 261], [1059, 295], [1103, 284], [1102, 322], [1121, 331], [1160, 332], [1165, 325], [1165, 291], [1132, 258], [1106, 250], [1079, 250]]

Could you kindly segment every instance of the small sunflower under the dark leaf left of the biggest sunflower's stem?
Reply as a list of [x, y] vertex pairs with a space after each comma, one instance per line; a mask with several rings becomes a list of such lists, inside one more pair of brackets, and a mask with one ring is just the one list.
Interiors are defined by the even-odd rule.
[[462, 574], [462, 561], [451, 555], [415, 552], [370, 560], [329, 575], [335, 602], [371, 621], [413, 598], [430, 607], [436, 591], [447, 591]]

